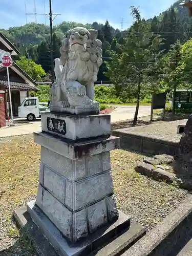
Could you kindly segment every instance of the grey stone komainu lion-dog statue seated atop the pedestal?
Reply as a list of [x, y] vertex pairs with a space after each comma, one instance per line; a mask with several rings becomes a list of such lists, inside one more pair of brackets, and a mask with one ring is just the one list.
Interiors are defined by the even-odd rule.
[[56, 82], [51, 88], [51, 111], [71, 114], [97, 113], [94, 82], [102, 64], [102, 42], [98, 31], [77, 27], [67, 32], [55, 59]]

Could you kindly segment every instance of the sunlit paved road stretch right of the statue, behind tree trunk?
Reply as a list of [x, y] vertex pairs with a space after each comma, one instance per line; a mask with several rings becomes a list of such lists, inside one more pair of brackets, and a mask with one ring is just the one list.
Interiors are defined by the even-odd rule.
[[[115, 105], [116, 109], [111, 113], [111, 122], [133, 119], [136, 106], [119, 106]], [[148, 116], [151, 113], [151, 106], [140, 106], [138, 117]]]

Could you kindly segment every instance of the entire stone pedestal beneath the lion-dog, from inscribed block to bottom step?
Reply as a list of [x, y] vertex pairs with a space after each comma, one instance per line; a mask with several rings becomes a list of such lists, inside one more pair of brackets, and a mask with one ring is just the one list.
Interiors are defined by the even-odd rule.
[[53, 232], [61, 234], [65, 248], [53, 234], [50, 238], [60, 255], [73, 255], [70, 247], [80, 255], [95, 237], [102, 244], [130, 225], [130, 217], [122, 213], [118, 220], [113, 195], [110, 151], [119, 147], [119, 138], [110, 136], [110, 115], [45, 112], [41, 119], [42, 132], [34, 133], [41, 145], [39, 187], [28, 211], [48, 239], [53, 225]]

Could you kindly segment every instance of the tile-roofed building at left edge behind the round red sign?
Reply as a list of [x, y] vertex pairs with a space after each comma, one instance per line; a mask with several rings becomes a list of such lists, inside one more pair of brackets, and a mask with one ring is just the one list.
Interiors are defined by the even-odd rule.
[[[19, 51], [15, 46], [0, 32], [0, 119], [3, 115], [8, 116], [7, 102], [9, 102], [7, 68], [2, 65], [2, 57], [8, 55], [14, 58], [14, 56], [18, 54]], [[37, 83], [24, 70], [16, 65], [16, 63], [13, 63], [12, 67], [9, 68], [9, 76], [13, 116], [17, 116], [18, 106], [28, 96], [29, 91], [38, 91], [36, 88]], [[5, 113], [2, 111], [3, 101]], [[0, 122], [0, 127], [1, 126]]]

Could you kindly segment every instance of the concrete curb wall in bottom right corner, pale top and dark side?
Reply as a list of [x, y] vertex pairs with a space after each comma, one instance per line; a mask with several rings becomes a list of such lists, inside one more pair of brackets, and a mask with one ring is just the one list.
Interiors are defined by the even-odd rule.
[[[134, 244], [130, 249], [124, 252], [122, 256], [191, 255], [191, 246], [187, 248], [187, 242], [192, 239], [191, 205], [192, 196], [189, 196], [159, 225], [154, 227], [136, 244]], [[185, 253], [183, 253], [183, 251]]]

